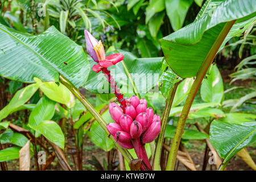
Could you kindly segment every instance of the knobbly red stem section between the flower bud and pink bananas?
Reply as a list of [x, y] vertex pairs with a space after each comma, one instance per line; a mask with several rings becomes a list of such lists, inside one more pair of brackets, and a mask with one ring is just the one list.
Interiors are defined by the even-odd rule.
[[120, 107], [125, 113], [126, 101], [123, 98], [123, 94], [120, 93], [120, 89], [117, 87], [117, 83], [115, 83], [114, 78], [110, 75], [110, 71], [108, 70], [108, 68], [101, 68], [101, 71], [102, 73], [104, 73], [104, 76], [107, 78], [110, 88], [113, 89], [115, 97], [117, 97], [117, 101], [120, 103]]

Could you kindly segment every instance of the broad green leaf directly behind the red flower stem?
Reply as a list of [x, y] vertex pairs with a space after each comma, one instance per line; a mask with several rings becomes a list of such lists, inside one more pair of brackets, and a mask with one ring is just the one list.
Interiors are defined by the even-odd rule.
[[[118, 50], [118, 52], [123, 54], [124, 59], [112, 67], [109, 67], [109, 70], [117, 86], [121, 88], [122, 93], [134, 94], [131, 79], [135, 83], [141, 96], [157, 85], [163, 57], [138, 59], [129, 52], [121, 50]], [[92, 65], [95, 64], [93, 61], [90, 63], [92, 63]], [[127, 72], [123, 65], [126, 66]], [[127, 74], [131, 75], [131, 79]], [[85, 84], [85, 89], [96, 93], [110, 93], [109, 88], [109, 82], [106, 81], [105, 76], [101, 72], [90, 72], [88, 81]]]

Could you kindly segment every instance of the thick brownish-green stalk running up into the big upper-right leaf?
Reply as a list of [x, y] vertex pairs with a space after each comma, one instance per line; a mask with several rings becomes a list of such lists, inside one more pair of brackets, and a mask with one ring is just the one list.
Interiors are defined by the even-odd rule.
[[189, 110], [191, 108], [192, 102], [196, 96], [197, 90], [199, 89], [201, 82], [203, 81], [203, 78], [205, 74], [208, 71], [208, 68], [210, 67], [210, 64], [212, 64], [212, 61], [218, 52], [218, 49], [220, 48], [222, 42], [226, 38], [226, 35], [228, 35], [228, 32], [232, 28], [234, 22], [236, 20], [232, 20], [230, 22], [227, 22], [225, 26], [222, 28], [222, 31], [220, 32], [220, 35], [218, 35], [218, 38], [214, 42], [212, 48], [210, 48], [210, 51], [205, 58], [203, 64], [201, 65], [201, 68], [197, 72], [196, 80], [193, 82], [193, 85], [191, 87], [191, 90], [188, 93], [187, 100], [185, 101], [185, 105], [183, 107], [183, 110], [181, 112], [179, 122], [177, 123], [177, 128], [175, 131], [174, 139], [172, 140], [172, 146], [171, 151], [168, 157], [166, 170], [167, 171], [173, 171], [175, 168], [175, 162], [176, 162], [176, 156], [177, 151], [179, 149], [181, 135], [183, 134], [185, 121], [187, 120]]

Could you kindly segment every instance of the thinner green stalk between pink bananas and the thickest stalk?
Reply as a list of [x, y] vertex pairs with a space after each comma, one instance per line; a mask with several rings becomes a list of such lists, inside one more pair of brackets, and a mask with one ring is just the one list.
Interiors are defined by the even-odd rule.
[[154, 159], [153, 159], [152, 166], [153, 166], [154, 171], [161, 171], [160, 159], [161, 159], [163, 142], [164, 142], [164, 133], [166, 131], [166, 126], [167, 126], [168, 118], [170, 115], [172, 102], [174, 101], [175, 92], [177, 90], [177, 85], [179, 85], [179, 82], [176, 82], [174, 85], [172, 85], [172, 88], [167, 96], [166, 108], [164, 109], [163, 118], [162, 118], [162, 126], [161, 126], [161, 130], [160, 130], [160, 134], [158, 136], [158, 142], [156, 143], [155, 155], [154, 155]]

